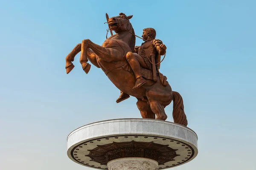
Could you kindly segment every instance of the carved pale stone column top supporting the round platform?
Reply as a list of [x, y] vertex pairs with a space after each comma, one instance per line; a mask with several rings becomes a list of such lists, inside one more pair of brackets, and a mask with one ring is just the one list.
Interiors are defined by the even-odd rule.
[[157, 161], [145, 158], [115, 159], [108, 163], [109, 170], [156, 170]]

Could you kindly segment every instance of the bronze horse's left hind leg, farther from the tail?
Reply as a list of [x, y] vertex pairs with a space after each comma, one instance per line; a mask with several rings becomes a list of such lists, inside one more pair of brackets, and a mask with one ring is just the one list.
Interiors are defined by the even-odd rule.
[[151, 110], [151, 108], [147, 102], [145, 102], [141, 99], [138, 99], [138, 102], [136, 104], [137, 104], [138, 109], [140, 110], [140, 114], [141, 114], [142, 118], [155, 119], [155, 114]]

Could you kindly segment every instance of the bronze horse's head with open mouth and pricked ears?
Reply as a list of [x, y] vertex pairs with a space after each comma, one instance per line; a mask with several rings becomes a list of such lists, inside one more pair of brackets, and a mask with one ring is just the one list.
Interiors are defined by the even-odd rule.
[[124, 13], [120, 13], [116, 17], [111, 17], [108, 20], [108, 27], [115, 31], [116, 33], [122, 32], [122, 31], [130, 31], [132, 28], [130, 19], [132, 18], [132, 15], [126, 16]]

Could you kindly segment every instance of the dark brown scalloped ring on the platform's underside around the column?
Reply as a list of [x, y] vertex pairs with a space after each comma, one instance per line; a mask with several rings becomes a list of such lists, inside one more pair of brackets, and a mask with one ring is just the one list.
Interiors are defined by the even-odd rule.
[[92, 161], [96, 161], [102, 165], [113, 159], [141, 157], [154, 159], [158, 164], [164, 164], [168, 161], [174, 161], [176, 150], [168, 147], [168, 145], [155, 144], [153, 142], [113, 142], [111, 144], [98, 145], [93, 150], [88, 150]]

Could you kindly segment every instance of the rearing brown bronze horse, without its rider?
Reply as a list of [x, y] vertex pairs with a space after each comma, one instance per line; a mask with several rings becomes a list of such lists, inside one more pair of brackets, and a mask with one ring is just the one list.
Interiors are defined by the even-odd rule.
[[182, 97], [172, 91], [167, 81], [166, 85], [163, 85], [159, 74], [157, 82], [147, 79], [144, 85], [132, 90], [136, 79], [126, 60], [127, 55], [134, 52], [135, 46], [131, 18], [132, 15], [126, 16], [123, 13], [109, 18], [108, 26], [116, 34], [106, 39], [102, 45], [97, 45], [88, 39], [76, 45], [66, 57], [67, 74], [74, 68], [72, 61], [81, 51], [80, 63], [85, 73], [90, 70], [88, 60], [97, 68], [101, 68], [119, 90], [138, 99], [137, 107], [143, 118], [166, 120], [164, 108], [173, 101], [174, 122], [187, 126]]

